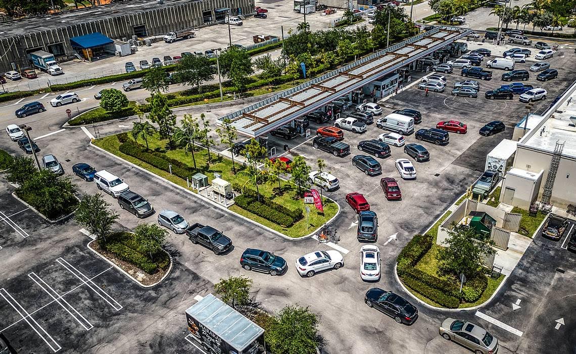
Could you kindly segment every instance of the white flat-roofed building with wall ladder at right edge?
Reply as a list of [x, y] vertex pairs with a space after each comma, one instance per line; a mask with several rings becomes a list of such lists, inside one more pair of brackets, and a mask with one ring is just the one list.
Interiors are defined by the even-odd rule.
[[571, 210], [576, 205], [576, 82], [543, 115], [514, 128], [518, 140], [500, 201], [528, 210], [539, 201]]

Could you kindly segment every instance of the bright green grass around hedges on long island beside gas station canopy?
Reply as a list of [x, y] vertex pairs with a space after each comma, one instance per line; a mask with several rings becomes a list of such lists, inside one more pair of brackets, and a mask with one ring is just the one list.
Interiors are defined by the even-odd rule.
[[[145, 144], [143, 139], [138, 140], [139, 143], [142, 145]], [[192, 162], [192, 155], [185, 154], [185, 152], [181, 149], [175, 150], [165, 150], [165, 146], [168, 140], [160, 140], [157, 138], [149, 138], [148, 143], [151, 150], [161, 151], [165, 153], [168, 157], [177, 159], [178, 161], [186, 163], [191, 168], [194, 167], [194, 163]], [[98, 147], [101, 147], [127, 161], [135, 163], [135, 165], [141, 166], [149, 170], [150, 172], [157, 174], [160, 177], [166, 178], [167, 180], [174, 182], [184, 188], [187, 188], [186, 181], [182, 180], [179, 177], [172, 176], [168, 172], [164, 170], [160, 170], [150, 166], [148, 163], [142, 162], [137, 158], [128, 156], [126, 154], [121, 153], [118, 150], [120, 143], [118, 138], [115, 135], [106, 136], [101, 139], [94, 140], [94, 144]], [[211, 182], [214, 179], [214, 173], [221, 174], [221, 178], [229, 182], [237, 182], [241, 185], [244, 185], [245, 182], [248, 180], [248, 177], [238, 176], [238, 174], [234, 174], [232, 170], [232, 160], [218, 156], [213, 152], [212, 158], [213, 162], [208, 165], [208, 152], [206, 149], [198, 147], [198, 150], [195, 152], [195, 159], [196, 159], [196, 167], [200, 169], [200, 172], [206, 174], [208, 176], [209, 181]], [[236, 162], [237, 171], [242, 169], [242, 166]], [[291, 182], [281, 180], [282, 185], [282, 192], [278, 191], [278, 179], [275, 177], [271, 177], [269, 181], [262, 182], [259, 184], [259, 191], [262, 195], [272, 197], [272, 200], [276, 201], [281, 205], [284, 205], [291, 210], [302, 209], [304, 210], [304, 201], [302, 198], [297, 197], [298, 187], [292, 184]], [[254, 186], [250, 186], [250, 188], [255, 188]], [[191, 189], [190, 189], [191, 190]], [[260, 216], [253, 215], [251, 212], [248, 212], [237, 205], [233, 205], [230, 210], [237, 212], [240, 215], [246, 216], [249, 219], [255, 220], [267, 227], [270, 227], [273, 230], [279, 231], [289, 237], [302, 237], [311, 233], [313, 230], [317, 229], [318, 227], [322, 226], [325, 222], [332, 218], [332, 216], [336, 215], [338, 212], [338, 205], [331, 200], [324, 199], [324, 214], [319, 214], [313, 205], [310, 205], [310, 215], [307, 224], [306, 220], [306, 212], [304, 210], [304, 219], [300, 220], [299, 222], [295, 223], [293, 226], [285, 228], [279, 226], [275, 223], [272, 223]]]

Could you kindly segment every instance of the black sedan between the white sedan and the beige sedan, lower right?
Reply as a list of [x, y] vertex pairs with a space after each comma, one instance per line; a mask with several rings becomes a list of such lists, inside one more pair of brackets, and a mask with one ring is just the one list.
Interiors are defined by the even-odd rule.
[[364, 302], [368, 307], [373, 307], [390, 317], [398, 323], [411, 325], [418, 318], [418, 309], [404, 300], [400, 295], [392, 291], [385, 291], [381, 288], [372, 288], [366, 291]]

